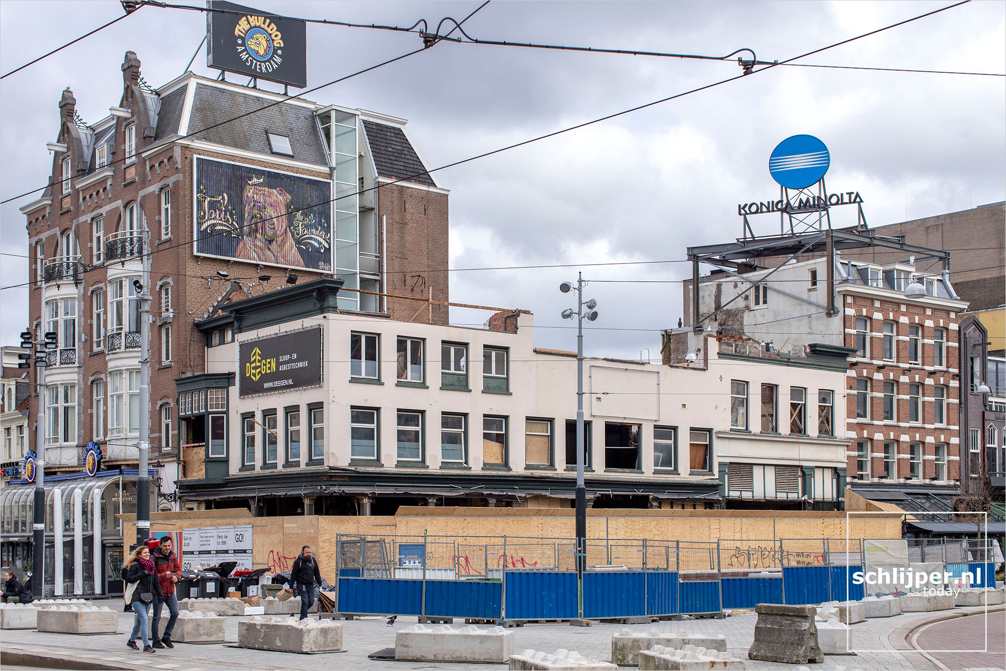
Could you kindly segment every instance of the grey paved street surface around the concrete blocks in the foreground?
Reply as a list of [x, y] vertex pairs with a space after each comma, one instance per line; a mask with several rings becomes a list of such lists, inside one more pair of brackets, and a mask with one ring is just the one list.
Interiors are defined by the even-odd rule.
[[[981, 609], [958, 609], [961, 611]], [[905, 631], [939, 614], [913, 613], [884, 620], [869, 620], [853, 626], [853, 649], [864, 651], [855, 656], [828, 657], [822, 665], [811, 665], [813, 669], [829, 669], [844, 666], [849, 669], [884, 671], [887, 669], [933, 669], [931, 664], [917, 653], [903, 653], [896, 649], [895, 630]], [[984, 617], [984, 616], [982, 616]], [[989, 619], [990, 650], [1003, 649], [1003, 614], [993, 614]], [[746, 659], [747, 648], [753, 636], [753, 613], [738, 613], [724, 620], [688, 620], [683, 622], [660, 622], [653, 625], [636, 625], [634, 631], [649, 631], [656, 628], [661, 632], [711, 631], [727, 637], [730, 652]], [[237, 640], [238, 618], [227, 618], [226, 639]], [[461, 621], [458, 621], [460, 624]], [[124, 664], [143, 664], [148, 668], [169, 669], [170, 671], [206, 671], [222, 668], [243, 669], [479, 669], [505, 668], [493, 664], [440, 664], [430, 662], [394, 662], [368, 659], [367, 655], [382, 648], [394, 646], [394, 632], [415, 623], [414, 618], [399, 618], [394, 627], [388, 627], [384, 619], [367, 619], [344, 622], [344, 646], [347, 652], [325, 655], [293, 655], [274, 652], [245, 651], [223, 645], [176, 645], [174, 650], [160, 650], [156, 655], [135, 653], [126, 647], [126, 635], [132, 628], [133, 617], [121, 614], [119, 635], [115, 636], [69, 636], [42, 634], [35, 631], [4, 632], [4, 644], [35, 649], [49, 654], [87, 655], [92, 659], [112, 660]], [[946, 625], [933, 625], [923, 630], [920, 637], [927, 647], [939, 649], [948, 639], [961, 642], [977, 637], [980, 628], [978, 616], [961, 618]], [[998, 628], [998, 629], [996, 629]], [[575, 650], [581, 655], [603, 660], [611, 659], [612, 634], [622, 629], [622, 625], [595, 624], [593, 627], [570, 627], [567, 624], [527, 625], [511, 631], [514, 633], [515, 649], [520, 652], [531, 648], [552, 652], [559, 648]], [[998, 639], [996, 634], [998, 632]], [[984, 629], [981, 629], [984, 641]], [[892, 640], [888, 640], [888, 639]], [[998, 647], [993, 643], [998, 641]], [[970, 645], [970, 644], [969, 644]], [[902, 646], [903, 647], [903, 644]], [[964, 647], [962, 645], [961, 647]], [[981, 648], [983, 646], [979, 646]], [[938, 659], [952, 669], [967, 667], [1004, 668], [1002, 653], [998, 660], [994, 655], [980, 657], [960, 655], [940, 655]], [[127, 667], [128, 668], [128, 667]], [[792, 668], [786, 665], [766, 662], [747, 662], [748, 669]]]

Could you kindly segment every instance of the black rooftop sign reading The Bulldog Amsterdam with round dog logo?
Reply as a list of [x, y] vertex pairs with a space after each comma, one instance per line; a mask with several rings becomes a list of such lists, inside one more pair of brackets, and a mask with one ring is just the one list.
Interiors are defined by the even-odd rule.
[[216, 0], [209, 10], [207, 66], [300, 89], [307, 86], [304, 21]]

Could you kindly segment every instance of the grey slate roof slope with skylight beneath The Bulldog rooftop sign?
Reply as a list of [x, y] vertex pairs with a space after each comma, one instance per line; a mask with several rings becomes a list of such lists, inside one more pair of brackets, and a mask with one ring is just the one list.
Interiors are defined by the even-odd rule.
[[[328, 159], [313, 111], [303, 105], [272, 104], [272, 101], [262, 96], [199, 82], [192, 101], [188, 132], [197, 133], [200, 129], [262, 110], [229, 124], [197, 133], [193, 137], [225, 147], [274, 156], [266, 137], [266, 131], [271, 131], [290, 137], [295, 160], [325, 166], [327, 169]], [[272, 107], [268, 107], [270, 105]]]

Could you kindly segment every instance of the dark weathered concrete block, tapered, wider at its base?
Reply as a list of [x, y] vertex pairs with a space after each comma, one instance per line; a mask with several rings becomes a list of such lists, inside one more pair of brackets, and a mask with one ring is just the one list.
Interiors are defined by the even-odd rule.
[[747, 657], [765, 662], [784, 664], [824, 663], [824, 653], [818, 644], [813, 606], [783, 606], [759, 604], [754, 607], [754, 642]]

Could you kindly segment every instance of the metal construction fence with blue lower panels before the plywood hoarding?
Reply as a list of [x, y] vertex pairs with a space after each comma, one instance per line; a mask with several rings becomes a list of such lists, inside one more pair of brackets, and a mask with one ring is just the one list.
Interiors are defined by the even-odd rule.
[[[762, 603], [859, 600], [867, 590], [857, 574], [873, 565], [868, 550], [887, 549], [883, 543], [894, 541], [591, 538], [580, 582], [572, 538], [338, 534], [335, 610], [543, 621], [715, 615]], [[941, 561], [960, 559], [943, 561], [951, 575], [977, 574], [975, 586], [995, 586], [992, 549], [984, 544], [937, 539], [897, 549], [905, 568], [916, 556], [937, 561], [939, 554]]]

